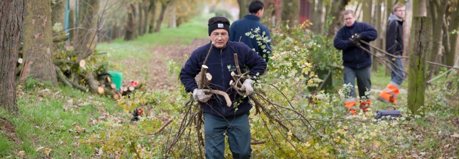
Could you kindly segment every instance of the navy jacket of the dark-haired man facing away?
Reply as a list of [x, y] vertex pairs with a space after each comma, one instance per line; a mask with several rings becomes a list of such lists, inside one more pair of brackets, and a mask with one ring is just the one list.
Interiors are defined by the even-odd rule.
[[[255, 51], [258, 53], [258, 55], [263, 57], [264, 60], [267, 62], [269, 60], [269, 55], [266, 52], [263, 52], [263, 49], [260, 45], [258, 45], [258, 41], [256, 40], [256, 38], [250, 38], [249, 36], [245, 35], [245, 33], [251, 32], [250, 29], [255, 30], [255, 28], [257, 27], [260, 28], [260, 35], [262, 35], [264, 31], [266, 33], [265, 36], [268, 39], [271, 39], [270, 30], [260, 23], [260, 18], [258, 18], [255, 15], [249, 14], [245, 15], [244, 19], [237, 20], [233, 22], [233, 24], [231, 24], [229, 40], [239, 42], [239, 39], [241, 39], [240, 42], [245, 43], [250, 48], [255, 48]], [[263, 44], [265, 45], [265, 48], [267, 48], [266, 51], [272, 52], [272, 50], [270, 49], [271, 42]]]

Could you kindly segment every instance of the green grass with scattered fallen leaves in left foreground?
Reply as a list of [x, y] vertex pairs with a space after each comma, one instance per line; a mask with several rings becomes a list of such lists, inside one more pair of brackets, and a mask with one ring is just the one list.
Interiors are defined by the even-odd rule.
[[[94, 149], [75, 143], [104, 130], [103, 126], [89, 125], [91, 120], [98, 119], [101, 111], [109, 114], [123, 112], [116, 101], [108, 97], [67, 87], [49, 90], [41, 87], [25, 90], [19, 86], [19, 92], [26, 94], [18, 97], [18, 116], [0, 109], [0, 116], [16, 127], [15, 134], [23, 142], [22, 145], [15, 144], [0, 135], [0, 158], [16, 156], [21, 150], [25, 151], [25, 158], [43, 158], [45, 148], [51, 149], [50, 155], [54, 158], [89, 158]], [[129, 120], [127, 115], [122, 118]], [[40, 147], [43, 149], [37, 151]]]

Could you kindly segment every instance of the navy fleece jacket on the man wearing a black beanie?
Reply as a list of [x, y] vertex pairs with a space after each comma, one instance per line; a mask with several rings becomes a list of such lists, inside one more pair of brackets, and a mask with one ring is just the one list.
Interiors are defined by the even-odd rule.
[[[185, 85], [185, 91], [193, 92], [194, 89], [198, 88], [195, 77], [201, 71], [201, 66], [206, 59], [210, 45], [211, 43], [208, 43], [193, 51], [180, 71], [180, 81]], [[238, 73], [234, 60], [235, 53], [238, 54], [239, 67], [242, 73], [245, 73], [245, 70], [242, 69], [244, 67], [250, 69], [251, 77], [260, 76], [264, 73], [266, 62], [244, 43], [228, 41], [222, 49], [214, 46], [206, 63], [206, 66], [209, 67], [207, 73], [212, 75], [209, 87], [213, 90], [226, 92], [230, 96], [233, 105], [227, 107], [223, 96], [213, 94], [207, 103], [203, 103], [204, 113], [230, 118], [247, 113], [252, 108], [249, 98], [243, 98], [230, 86], [230, 81], [233, 80], [231, 72]]]

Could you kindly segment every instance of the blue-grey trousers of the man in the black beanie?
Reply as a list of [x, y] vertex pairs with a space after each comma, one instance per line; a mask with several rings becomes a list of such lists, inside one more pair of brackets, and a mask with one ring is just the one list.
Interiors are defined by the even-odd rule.
[[206, 158], [223, 158], [225, 134], [228, 136], [233, 158], [250, 158], [249, 112], [235, 118], [225, 119], [204, 113], [204, 141]]

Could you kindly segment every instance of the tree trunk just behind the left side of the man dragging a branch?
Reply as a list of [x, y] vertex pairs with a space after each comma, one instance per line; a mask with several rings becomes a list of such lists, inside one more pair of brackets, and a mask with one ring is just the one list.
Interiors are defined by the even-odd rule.
[[331, 8], [329, 9], [329, 16], [335, 17], [333, 23], [328, 28], [327, 36], [333, 38], [340, 27], [343, 25], [343, 15], [342, 13], [346, 9], [346, 5], [348, 5], [349, 0], [333, 0]]

